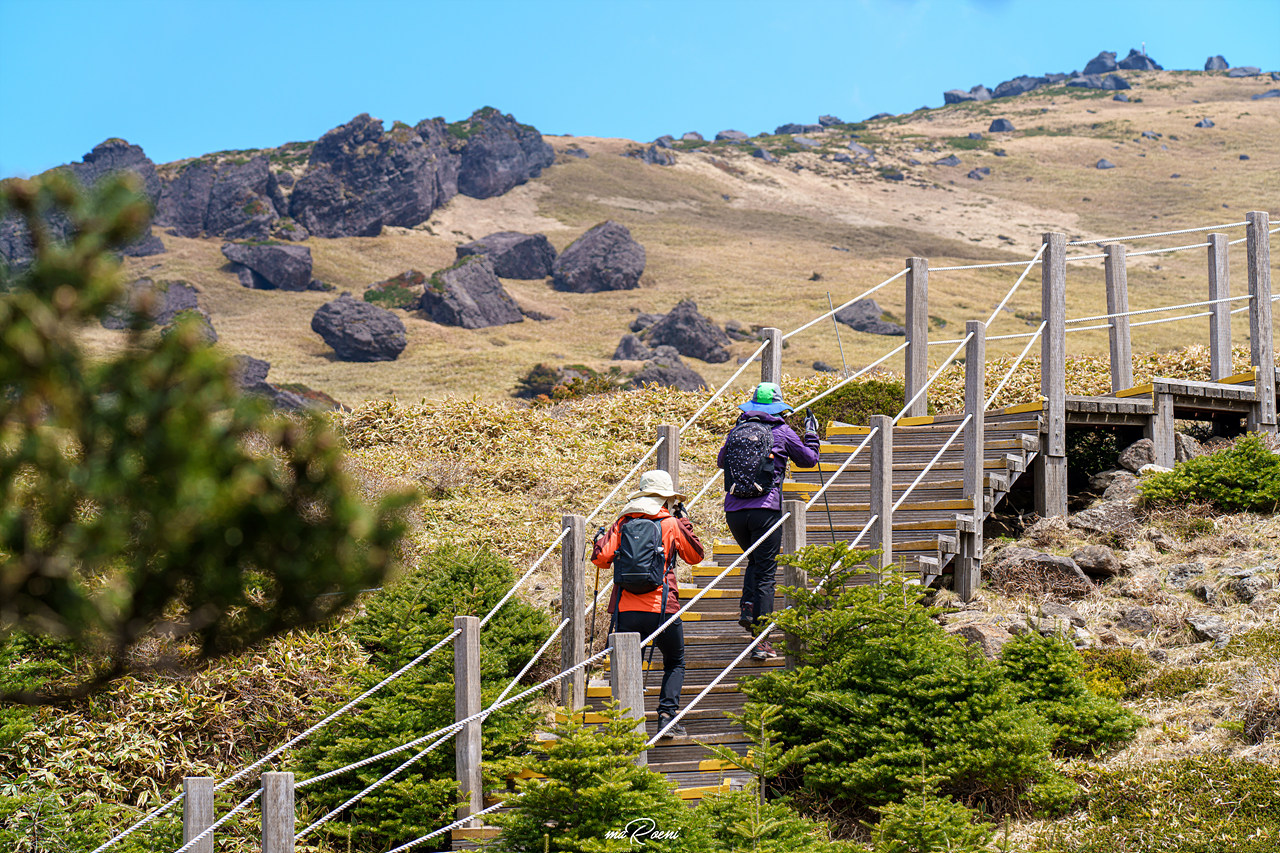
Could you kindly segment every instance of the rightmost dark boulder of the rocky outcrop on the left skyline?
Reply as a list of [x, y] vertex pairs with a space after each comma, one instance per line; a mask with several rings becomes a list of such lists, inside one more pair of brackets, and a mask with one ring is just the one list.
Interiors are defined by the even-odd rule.
[[463, 140], [458, 192], [474, 199], [500, 196], [556, 161], [541, 133], [492, 106], [451, 124], [449, 133]]

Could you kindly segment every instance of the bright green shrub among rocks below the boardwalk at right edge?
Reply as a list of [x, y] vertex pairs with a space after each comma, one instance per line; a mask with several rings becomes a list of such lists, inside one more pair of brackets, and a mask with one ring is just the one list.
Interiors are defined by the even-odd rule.
[[1280, 455], [1258, 435], [1179, 462], [1138, 485], [1144, 503], [1212, 503], [1224, 512], [1275, 512], [1280, 506]]

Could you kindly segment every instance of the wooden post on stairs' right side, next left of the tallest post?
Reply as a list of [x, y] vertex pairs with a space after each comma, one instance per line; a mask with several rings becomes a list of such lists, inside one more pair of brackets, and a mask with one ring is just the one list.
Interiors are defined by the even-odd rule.
[[987, 457], [986, 418], [987, 402], [987, 324], [982, 320], [965, 323], [969, 343], [964, 353], [964, 414], [969, 423], [964, 428], [964, 496], [973, 501], [973, 532], [960, 535], [960, 556], [956, 558], [955, 590], [964, 601], [973, 601], [982, 583], [982, 498], [983, 462]]

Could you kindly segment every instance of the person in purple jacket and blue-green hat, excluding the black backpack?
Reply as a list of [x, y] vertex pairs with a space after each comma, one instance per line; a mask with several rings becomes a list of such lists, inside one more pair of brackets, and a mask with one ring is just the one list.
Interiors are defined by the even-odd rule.
[[[756, 497], [737, 497], [724, 494], [724, 520], [728, 523], [733, 540], [745, 551], [759, 539], [778, 519], [782, 517], [782, 480], [787, 475], [787, 462], [794, 461], [801, 467], [818, 464], [818, 429], [812, 421], [805, 424], [804, 441], [782, 419], [782, 412], [791, 411], [782, 400], [782, 389], [772, 382], [762, 382], [751, 392], [751, 398], [741, 403], [742, 414], [737, 424], [756, 421], [767, 425], [773, 433], [773, 478], [772, 483], [762, 484], [763, 494]], [[736, 426], [736, 425], [735, 425]], [[726, 448], [730, 439], [721, 447], [716, 464], [726, 467]], [[726, 471], [726, 492], [730, 491], [728, 471]], [[773, 612], [773, 589], [777, 585], [777, 557], [782, 547], [782, 526], [768, 535], [746, 558], [746, 571], [742, 574], [741, 616], [739, 625], [748, 633], [751, 626]], [[778, 653], [769, 643], [760, 643], [751, 657], [764, 661]]]

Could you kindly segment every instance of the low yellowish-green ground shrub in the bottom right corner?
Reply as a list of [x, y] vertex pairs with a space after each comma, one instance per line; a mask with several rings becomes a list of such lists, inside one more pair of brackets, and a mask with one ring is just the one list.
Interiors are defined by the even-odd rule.
[[1103, 771], [1091, 785], [1089, 829], [1064, 853], [1272, 853], [1280, 839], [1280, 768], [1201, 756]]

